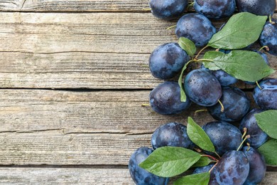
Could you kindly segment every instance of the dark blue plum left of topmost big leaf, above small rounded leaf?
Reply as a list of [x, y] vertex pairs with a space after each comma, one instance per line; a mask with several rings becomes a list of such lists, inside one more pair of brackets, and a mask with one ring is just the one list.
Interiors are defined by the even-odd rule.
[[212, 22], [201, 14], [185, 14], [178, 20], [175, 30], [178, 38], [188, 38], [197, 47], [207, 45], [215, 32]]

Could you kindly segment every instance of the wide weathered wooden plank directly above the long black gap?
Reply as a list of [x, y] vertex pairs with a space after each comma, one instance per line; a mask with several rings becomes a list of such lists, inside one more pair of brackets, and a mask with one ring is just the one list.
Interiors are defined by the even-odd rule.
[[173, 23], [150, 14], [1, 13], [0, 86], [153, 88], [161, 80], [145, 65], [154, 48], [176, 41], [165, 30]]

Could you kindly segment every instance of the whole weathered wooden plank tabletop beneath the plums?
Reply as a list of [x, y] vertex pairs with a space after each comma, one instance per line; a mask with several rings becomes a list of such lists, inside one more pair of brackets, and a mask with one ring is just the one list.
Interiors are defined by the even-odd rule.
[[[195, 105], [178, 116], [141, 107], [162, 82], [145, 67], [149, 54], [176, 41], [165, 29], [176, 20], [146, 8], [146, 0], [0, 1], [1, 184], [134, 184], [129, 157], [151, 146], [159, 125], [212, 120], [195, 116]], [[276, 168], [262, 184], [277, 184]]]

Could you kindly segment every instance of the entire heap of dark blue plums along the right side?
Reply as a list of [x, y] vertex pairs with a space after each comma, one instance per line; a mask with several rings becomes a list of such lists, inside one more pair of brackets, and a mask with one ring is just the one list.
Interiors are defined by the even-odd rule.
[[[273, 15], [276, 9], [275, 0], [195, 0], [197, 13], [182, 16], [188, 6], [187, 0], [151, 0], [149, 4], [152, 14], [158, 18], [169, 20], [181, 16], [176, 25], [176, 36], [189, 38], [197, 47], [206, 46], [217, 31], [210, 19], [232, 16], [236, 6], [239, 11], [266, 16]], [[268, 46], [268, 53], [277, 56], [277, 23], [274, 24], [273, 19], [266, 22], [259, 43]], [[254, 52], [259, 53], [269, 65], [265, 53]], [[180, 73], [189, 60], [190, 57], [178, 43], [164, 43], [151, 53], [149, 68], [152, 75], [167, 80], [151, 91], [149, 102], [152, 109], [161, 115], [175, 115], [188, 110], [192, 103], [206, 107], [217, 121], [206, 123], [202, 129], [221, 158], [217, 158], [216, 165], [198, 167], [193, 173], [210, 171], [209, 184], [258, 184], [264, 179], [266, 164], [256, 148], [266, 142], [268, 135], [259, 128], [254, 115], [277, 109], [277, 79], [266, 78], [257, 82], [259, 85], [252, 94], [259, 109], [253, 109], [246, 93], [234, 86], [238, 81], [236, 78], [223, 70], [209, 70], [202, 65], [185, 76], [183, 87], [187, 99], [182, 102], [180, 86], [172, 78]], [[233, 123], [238, 122], [239, 127], [234, 126]], [[245, 133], [250, 137], [246, 138]], [[244, 144], [240, 147], [243, 139], [246, 139], [248, 146]], [[168, 184], [168, 178], [156, 176], [139, 167], [139, 163], [154, 149], [165, 146], [196, 147], [188, 137], [186, 126], [177, 122], [158, 127], [153, 132], [151, 144], [152, 149], [136, 149], [129, 160], [129, 171], [136, 184]]]

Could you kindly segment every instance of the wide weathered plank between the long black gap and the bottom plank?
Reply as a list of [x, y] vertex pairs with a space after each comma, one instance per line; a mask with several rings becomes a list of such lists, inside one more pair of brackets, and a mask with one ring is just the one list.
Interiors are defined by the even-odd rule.
[[141, 107], [149, 92], [0, 90], [0, 165], [127, 164], [134, 149], [150, 146], [159, 125], [213, 120], [194, 115], [198, 106], [158, 115]]

